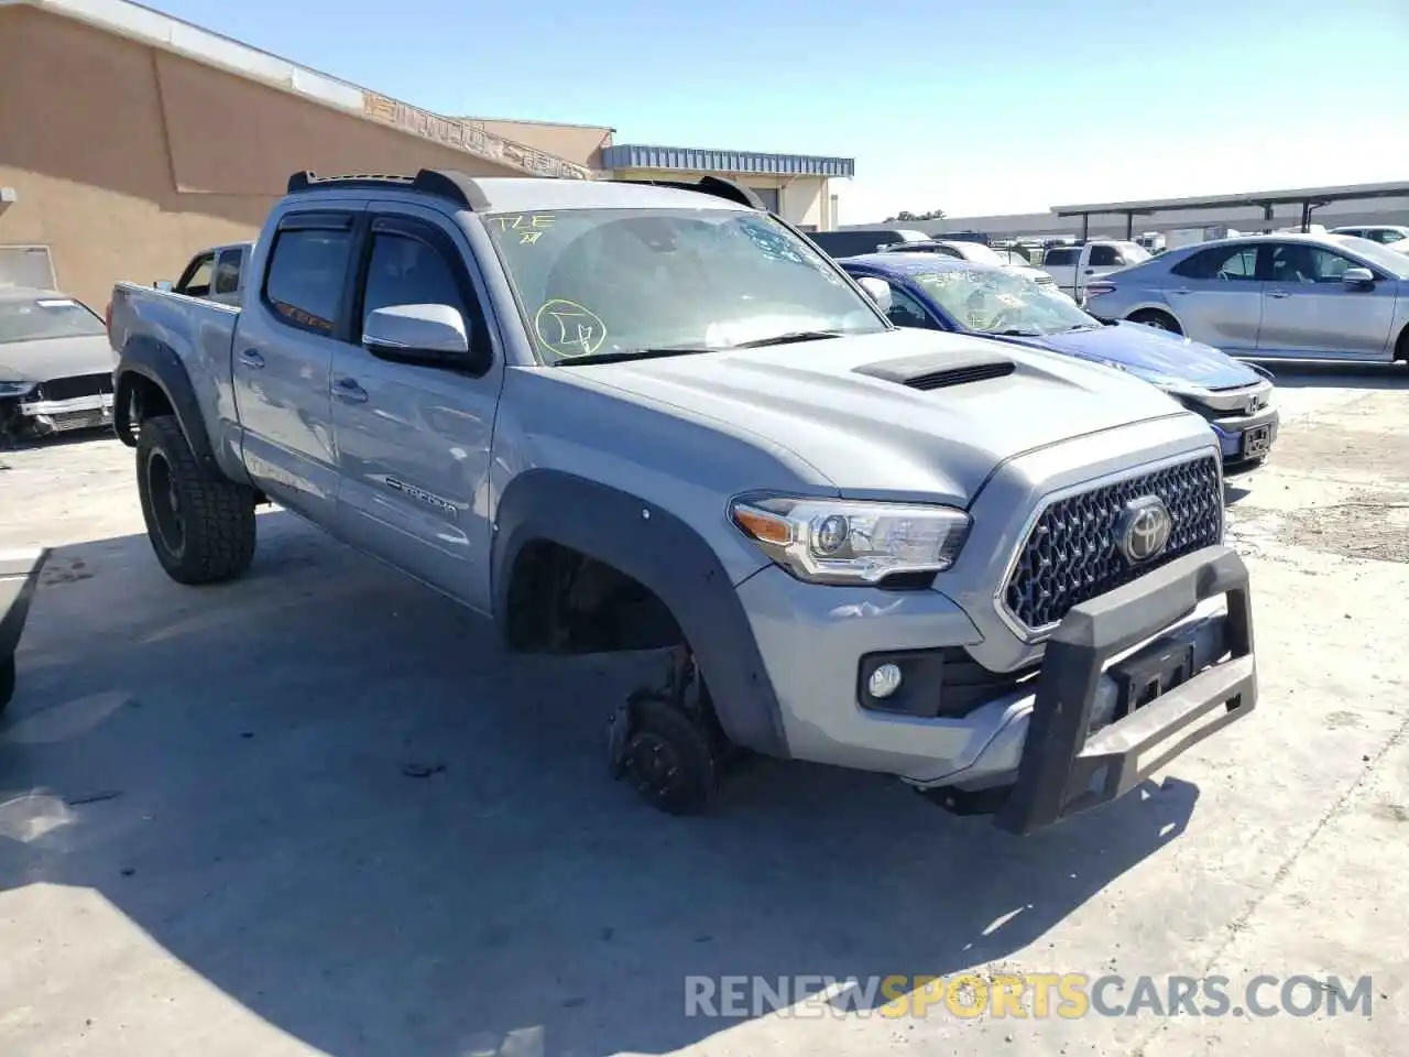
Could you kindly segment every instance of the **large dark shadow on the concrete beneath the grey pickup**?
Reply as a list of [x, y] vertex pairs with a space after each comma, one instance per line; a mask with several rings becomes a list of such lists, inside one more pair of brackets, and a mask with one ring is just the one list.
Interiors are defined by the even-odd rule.
[[[509, 658], [286, 514], [224, 588], [169, 583], [144, 537], [52, 568], [0, 723], [0, 891], [93, 889], [337, 1057], [669, 1053], [735, 1022], [686, 1016], [690, 975], [947, 975], [1030, 946], [1062, 971], [1043, 936], [1198, 799], [1167, 779], [1016, 839], [759, 761], [672, 819], [604, 777], [628, 665]], [[66, 974], [104, 972], [72, 946]]]

